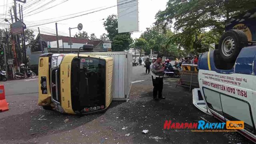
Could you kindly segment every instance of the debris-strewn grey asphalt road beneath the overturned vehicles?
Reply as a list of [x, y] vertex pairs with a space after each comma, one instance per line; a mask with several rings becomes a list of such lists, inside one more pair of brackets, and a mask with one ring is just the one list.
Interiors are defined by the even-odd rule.
[[[37, 106], [38, 80], [4, 84], [9, 111], [0, 113], [0, 144], [248, 144], [236, 132], [163, 130], [173, 122], [219, 122], [192, 104], [192, 93], [177, 87], [177, 79], [164, 78], [166, 100], [152, 100], [152, 80], [142, 66], [133, 67], [127, 102], [112, 102], [106, 112], [75, 116]], [[142, 130], [149, 130], [142, 134]], [[126, 136], [125, 136], [126, 135]]]

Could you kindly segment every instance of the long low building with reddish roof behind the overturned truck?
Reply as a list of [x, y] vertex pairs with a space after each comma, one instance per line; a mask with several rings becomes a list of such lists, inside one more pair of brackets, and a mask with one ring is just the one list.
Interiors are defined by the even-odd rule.
[[[41, 39], [40, 39], [41, 37]], [[57, 53], [57, 38], [56, 36], [39, 34], [33, 43], [26, 45], [26, 53], [30, 58], [29, 68], [37, 72], [38, 71], [38, 61], [39, 56], [42, 53]], [[42, 48], [41, 43], [42, 42]], [[60, 53], [70, 53], [70, 37], [68, 36], [58, 36], [59, 41], [59, 52]], [[93, 52], [111, 52], [111, 41], [102, 40], [88, 40], [85, 38], [71, 38], [72, 42], [72, 52], [78, 52], [79, 48], [84, 44], [92, 44], [94, 46]], [[80, 52], [83, 52], [81, 49]]]

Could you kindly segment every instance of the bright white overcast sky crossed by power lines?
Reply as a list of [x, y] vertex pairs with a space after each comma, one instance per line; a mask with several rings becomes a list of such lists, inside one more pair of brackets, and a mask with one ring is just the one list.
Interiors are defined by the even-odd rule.
[[[48, 2], [50, 3], [47, 4]], [[139, 31], [133, 32], [132, 38], [139, 38], [142, 32], [146, 30], [146, 28], [149, 28], [150, 26], [153, 25], [153, 23], [155, 22], [156, 13], [159, 10], [164, 10], [166, 8], [166, 3], [168, 2], [168, 0], [138, 0], [138, 2], [139, 2], [138, 4]], [[55, 22], [41, 25], [41, 26], [35, 26], [37, 24], [43, 24], [47, 22], [52, 22], [54, 20], [60, 20], [67, 17], [75, 16], [75, 15], [71, 15], [71, 16], [66, 16], [66, 15], [70, 15], [78, 12], [82, 12], [79, 14], [85, 14], [88, 12], [104, 9], [110, 6], [115, 6], [117, 5], [117, 0], [27, 0], [26, 4], [22, 4], [20, 2], [17, 2], [17, 3], [23, 5], [24, 23], [28, 28], [34, 30], [34, 34], [37, 35], [38, 27], [40, 28], [40, 32], [42, 34], [47, 34], [47, 33], [56, 34]], [[7, 4], [7, 9], [6, 9], [6, 4]], [[10, 6], [12, 5], [13, 5], [13, 0], [0, 0], [0, 24], [2, 23], [7, 24], [7, 22], [4, 22], [3, 20], [4, 18], [10, 18], [10, 16], [8, 15], [10, 14], [9, 13]], [[50, 8], [52, 6], [54, 7]], [[45, 10], [47, 8], [49, 9]], [[39, 12], [39, 13], [35, 14], [36, 12]], [[76, 14], [76, 15], [79, 15], [79, 14]], [[69, 36], [68, 28], [71, 27], [71, 28], [74, 28], [71, 30], [71, 35], [74, 36], [76, 33], [79, 32], [79, 30], [75, 27], [77, 27], [77, 25], [81, 23], [83, 24], [83, 29], [81, 30], [81, 32], [86, 31], [88, 35], [94, 33], [97, 36], [97, 38], [100, 38], [100, 35], [102, 35], [103, 33], [107, 34], [103, 26], [103, 23], [104, 23], [103, 19], [106, 20], [106, 18], [111, 14], [117, 14], [116, 6], [113, 8], [108, 8], [106, 10], [99, 11], [99, 12], [94, 12], [92, 14], [87, 14], [84, 16], [79, 16], [76, 18], [57, 22], [58, 34], [62, 36]], [[62, 17], [62, 16], [66, 16], [66, 17]], [[30, 26], [33, 26], [33, 27], [30, 27]], [[4, 28], [4, 27], [0, 25], [0, 28]]]

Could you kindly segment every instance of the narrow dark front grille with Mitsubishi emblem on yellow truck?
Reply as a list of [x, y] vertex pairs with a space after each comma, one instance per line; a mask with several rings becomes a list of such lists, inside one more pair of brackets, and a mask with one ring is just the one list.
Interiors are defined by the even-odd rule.
[[52, 93], [52, 100], [60, 103], [60, 70], [59, 68], [52, 70], [52, 73], [51, 73], [51, 93]]

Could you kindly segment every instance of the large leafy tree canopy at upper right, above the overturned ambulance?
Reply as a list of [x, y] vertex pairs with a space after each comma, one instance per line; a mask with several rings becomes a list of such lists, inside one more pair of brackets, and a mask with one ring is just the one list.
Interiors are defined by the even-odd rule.
[[156, 14], [155, 24], [164, 31], [176, 30], [167, 45], [177, 44], [188, 54], [206, 52], [209, 44], [218, 43], [224, 20], [255, 6], [255, 0], [169, 0]]

